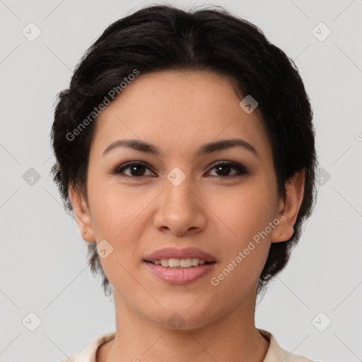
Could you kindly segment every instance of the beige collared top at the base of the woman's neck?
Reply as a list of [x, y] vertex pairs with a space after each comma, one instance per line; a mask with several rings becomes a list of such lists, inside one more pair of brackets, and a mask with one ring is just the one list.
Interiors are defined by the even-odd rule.
[[[257, 328], [257, 330], [260, 334], [262, 334], [264, 337], [267, 337], [269, 340], [269, 349], [263, 362], [313, 362], [308, 358], [290, 354], [290, 352], [282, 349], [270, 332], [259, 328]], [[83, 352], [81, 352], [81, 354], [69, 356], [69, 358], [65, 358], [59, 362], [96, 362], [95, 355], [98, 348], [102, 344], [107, 343], [107, 341], [114, 339], [115, 334], [116, 332], [103, 334], [102, 336], [95, 339], [95, 341], [93, 341], [86, 349], [84, 349]]]

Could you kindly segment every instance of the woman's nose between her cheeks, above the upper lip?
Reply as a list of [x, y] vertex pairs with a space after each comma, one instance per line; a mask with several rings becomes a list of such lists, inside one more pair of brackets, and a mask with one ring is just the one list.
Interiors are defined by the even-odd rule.
[[186, 177], [180, 185], [165, 181], [165, 189], [158, 198], [153, 223], [158, 230], [177, 236], [199, 233], [207, 222], [206, 206], [201, 195]]

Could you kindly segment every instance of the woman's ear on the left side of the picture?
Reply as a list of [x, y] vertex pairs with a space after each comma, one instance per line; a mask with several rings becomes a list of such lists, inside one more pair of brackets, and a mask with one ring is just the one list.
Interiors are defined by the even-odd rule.
[[95, 243], [88, 204], [81, 191], [74, 185], [69, 185], [69, 199], [71, 200], [74, 217], [83, 240], [88, 243]]

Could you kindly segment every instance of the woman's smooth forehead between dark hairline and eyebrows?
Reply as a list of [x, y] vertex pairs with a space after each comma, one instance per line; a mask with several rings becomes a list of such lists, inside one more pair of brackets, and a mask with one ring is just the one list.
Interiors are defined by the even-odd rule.
[[92, 150], [117, 139], [141, 139], [165, 153], [218, 139], [243, 138], [271, 151], [261, 112], [247, 114], [233, 82], [209, 71], [140, 74], [100, 113]]

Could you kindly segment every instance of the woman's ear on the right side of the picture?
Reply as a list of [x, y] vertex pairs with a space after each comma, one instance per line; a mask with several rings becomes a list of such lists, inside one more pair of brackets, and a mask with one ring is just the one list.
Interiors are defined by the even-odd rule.
[[298, 171], [286, 182], [286, 198], [279, 202], [279, 224], [271, 233], [271, 243], [289, 240], [303, 201], [305, 170]]

